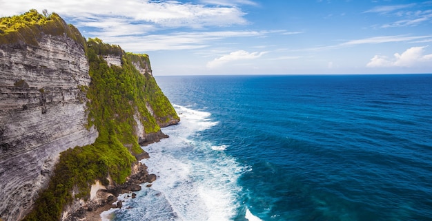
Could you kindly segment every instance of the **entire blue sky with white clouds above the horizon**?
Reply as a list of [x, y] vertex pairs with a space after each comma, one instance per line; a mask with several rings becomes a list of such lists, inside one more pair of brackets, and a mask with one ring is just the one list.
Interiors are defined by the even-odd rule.
[[0, 0], [150, 56], [153, 74], [432, 73], [432, 1]]

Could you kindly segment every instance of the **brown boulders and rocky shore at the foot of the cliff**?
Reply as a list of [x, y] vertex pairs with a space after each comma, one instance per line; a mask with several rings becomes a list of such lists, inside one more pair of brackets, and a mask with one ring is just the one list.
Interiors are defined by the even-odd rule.
[[101, 213], [111, 208], [121, 208], [123, 203], [118, 200], [119, 194], [127, 193], [128, 197], [135, 198], [134, 191], [141, 190], [141, 184], [148, 182], [146, 187], [151, 187], [151, 182], [156, 180], [155, 174], [148, 174], [147, 166], [141, 162], [132, 168], [126, 182], [122, 185], [108, 186], [107, 189], [97, 190], [95, 198], [80, 203], [79, 209], [63, 218], [64, 221], [101, 221]]

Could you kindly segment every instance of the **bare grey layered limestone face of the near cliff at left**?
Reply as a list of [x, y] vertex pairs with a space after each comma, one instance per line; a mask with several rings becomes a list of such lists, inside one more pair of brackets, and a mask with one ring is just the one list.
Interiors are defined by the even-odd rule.
[[88, 61], [68, 36], [38, 45], [0, 45], [0, 212], [19, 220], [50, 176], [59, 153], [93, 143], [86, 129]]

